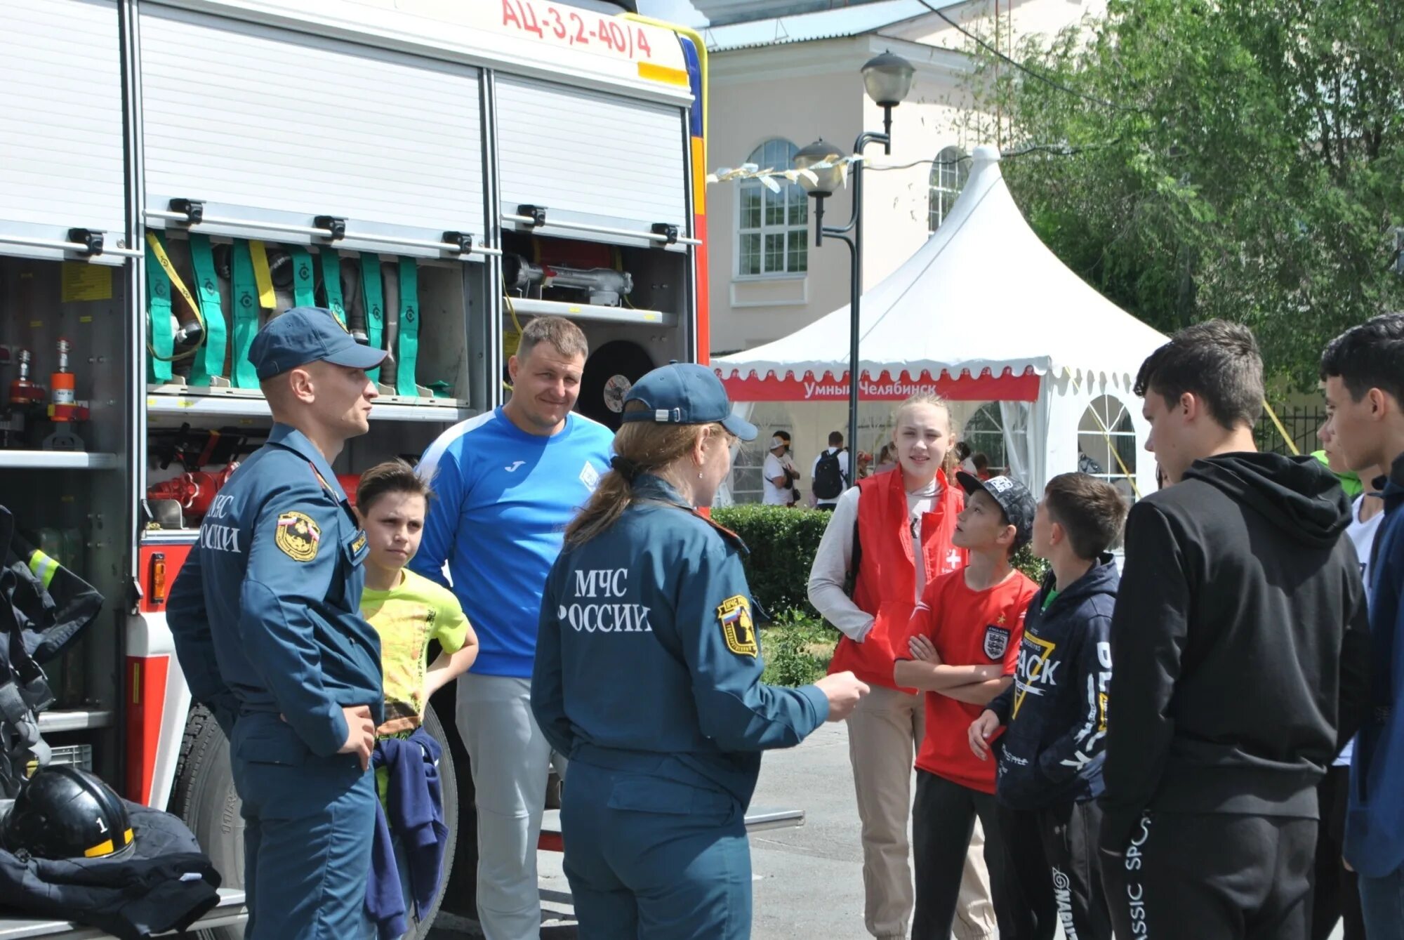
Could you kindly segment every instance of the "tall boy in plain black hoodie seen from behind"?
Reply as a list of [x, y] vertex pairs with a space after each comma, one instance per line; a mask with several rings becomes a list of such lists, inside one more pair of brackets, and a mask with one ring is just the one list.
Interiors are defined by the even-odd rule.
[[1136, 394], [1172, 485], [1132, 506], [1112, 617], [1112, 923], [1307, 940], [1316, 786], [1369, 685], [1349, 504], [1314, 457], [1254, 452], [1262, 359], [1245, 327], [1175, 334]]

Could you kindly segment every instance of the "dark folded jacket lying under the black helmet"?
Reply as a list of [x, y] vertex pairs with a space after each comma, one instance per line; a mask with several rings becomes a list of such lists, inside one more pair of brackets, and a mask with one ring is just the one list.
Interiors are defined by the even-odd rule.
[[126, 803], [132, 852], [51, 861], [0, 850], [0, 908], [98, 927], [121, 940], [184, 930], [219, 904], [219, 873], [168, 812]]

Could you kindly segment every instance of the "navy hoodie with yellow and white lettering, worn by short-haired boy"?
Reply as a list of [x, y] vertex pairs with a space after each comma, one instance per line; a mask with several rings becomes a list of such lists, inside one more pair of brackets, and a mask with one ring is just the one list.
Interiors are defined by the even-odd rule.
[[1106, 554], [1047, 610], [1052, 572], [1029, 603], [1014, 685], [988, 706], [1007, 725], [995, 742], [995, 795], [1007, 807], [1038, 810], [1102, 793], [1118, 581]]

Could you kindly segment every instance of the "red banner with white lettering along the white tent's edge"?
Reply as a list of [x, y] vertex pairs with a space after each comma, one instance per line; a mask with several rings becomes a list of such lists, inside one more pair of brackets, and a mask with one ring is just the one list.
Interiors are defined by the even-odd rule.
[[[751, 375], [741, 377], [731, 369], [717, 369], [717, 376], [726, 386], [726, 394], [731, 401], [847, 401], [848, 373], [834, 377], [826, 372], [821, 377], [813, 373], [804, 376], [788, 375], [783, 379], [775, 375], [760, 377]], [[731, 373], [727, 376], [727, 373]], [[1014, 375], [1005, 370], [1004, 375], [993, 375], [990, 370], [973, 375], [952, 376], [942, 372], [939, 377], [932, 377], [929, 372], [922, 372], [911, 377], [901, 372], [896, 379], [889, 372], [882, 372], [876, 379], [869, 373], [862, 373], [858, 386], [858, 397], [863, 401], [901, 401], [914, 394], [938, 394], [951, 401], [1036, 401], [1039, 397], [1039, 375], [1032, 369], [1024, 375]]]

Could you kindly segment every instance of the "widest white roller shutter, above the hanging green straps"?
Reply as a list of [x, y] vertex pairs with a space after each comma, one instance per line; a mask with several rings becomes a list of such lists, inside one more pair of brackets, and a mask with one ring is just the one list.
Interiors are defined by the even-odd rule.
[[146, 4], [142, 83], [149, 209], [484, 230], [476, 69]]

